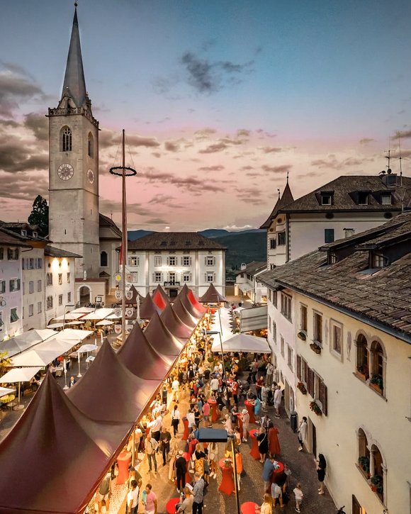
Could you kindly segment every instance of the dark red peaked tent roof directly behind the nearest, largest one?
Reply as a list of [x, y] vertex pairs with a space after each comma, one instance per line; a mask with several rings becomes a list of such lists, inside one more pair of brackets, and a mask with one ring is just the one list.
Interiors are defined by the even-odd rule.
[[159, 384], [160, 380], [135, 376], [106, 340], [90, 369], [67, 396], [92, 420], [135, 423]]

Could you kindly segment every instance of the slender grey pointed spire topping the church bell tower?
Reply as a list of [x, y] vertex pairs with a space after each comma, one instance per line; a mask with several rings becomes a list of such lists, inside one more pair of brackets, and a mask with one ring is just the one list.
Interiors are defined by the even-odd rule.
[[76, 104], [76, 107], [83, 106], [87, 98], [83, 60], [81, 58], [79, 21], [77, 20], [77, 3], [74, 4], [72, 38], [70, 39], [69, 55], [67, 57], [62, 97], [64, 94], [69, 94], [69, 96], [73, 99], [74, 104]]

